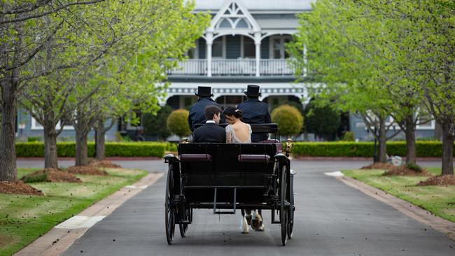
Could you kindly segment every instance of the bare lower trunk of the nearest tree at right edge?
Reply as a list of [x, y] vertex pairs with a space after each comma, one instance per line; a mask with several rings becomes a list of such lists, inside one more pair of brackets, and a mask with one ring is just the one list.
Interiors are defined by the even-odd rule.
[[452, 120], [442, 123], [442, 174], [454, 175], [454, 125]]

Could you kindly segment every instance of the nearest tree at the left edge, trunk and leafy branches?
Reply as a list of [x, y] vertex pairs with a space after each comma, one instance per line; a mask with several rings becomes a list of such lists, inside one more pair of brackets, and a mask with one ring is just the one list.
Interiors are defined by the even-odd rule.
[[49, 47], [62, 47], [50, 42], [61, 36], [62, 29], [77, 24], [79, 11], [90, 12], [88, 6], [100, 2], [102, 0], [0, 3], [0, 180], [17, 180], [15, 118], [18, 92], [26, 86], [24, 82], [74, 64], [68, 62], [52, 69], [36, 69], [36, 72], [29, 72], [27, 68], [40, 65], [35, 58], [38, 53]]

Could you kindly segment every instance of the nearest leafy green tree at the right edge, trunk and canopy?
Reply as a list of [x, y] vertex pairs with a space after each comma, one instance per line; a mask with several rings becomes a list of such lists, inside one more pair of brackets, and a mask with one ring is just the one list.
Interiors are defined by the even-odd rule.
[[442, 173], [452, 174], [455, 140], [455, 3], [447, 0], [363, 0], [384, 22], [383, 34], [395, 50], [384, 61], [409, 84], [405, 95], [423, 95], [421, 105], [442, 127]]

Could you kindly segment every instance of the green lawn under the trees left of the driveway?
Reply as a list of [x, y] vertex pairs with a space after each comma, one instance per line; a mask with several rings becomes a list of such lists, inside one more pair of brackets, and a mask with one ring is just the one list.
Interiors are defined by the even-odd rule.
[[[18, 177], [36, 169], [18, 169]], [[109, 176], [76, 175], [83, 183], [29, 183], [45, 197], [0, 194], [0, 255], [12, 255], [77, 215], [94, 202], [147, 175], [146, 171], [106, 169]]]

